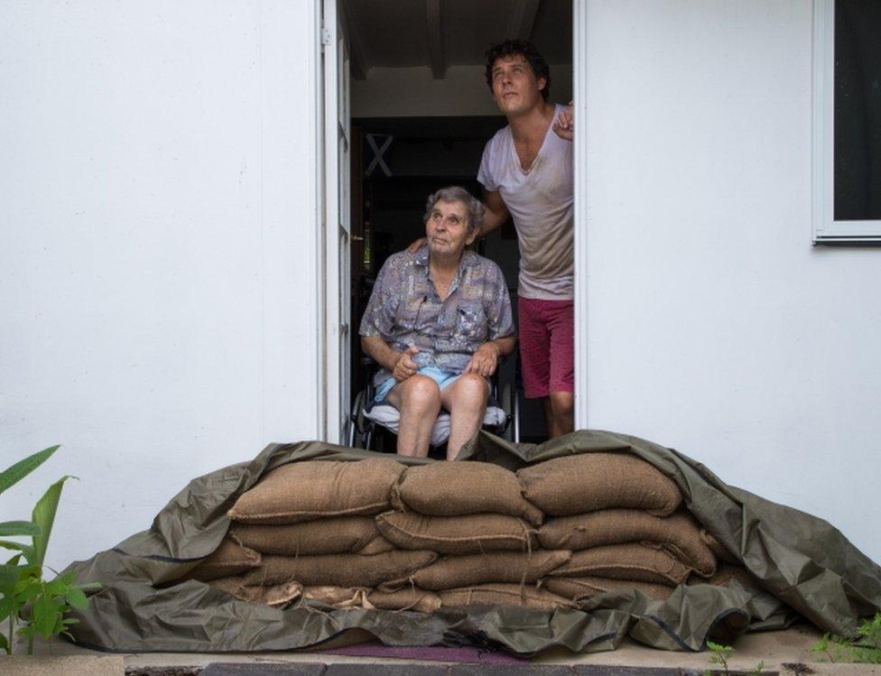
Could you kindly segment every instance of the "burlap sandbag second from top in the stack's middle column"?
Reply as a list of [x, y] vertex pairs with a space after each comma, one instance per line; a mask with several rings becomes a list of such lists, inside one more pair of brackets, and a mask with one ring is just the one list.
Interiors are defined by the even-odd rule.
[[403, 550], [431, 550], [441, 554], [537, 549], [535, 531], [516, 516], [468, 514], [425, 516], [417, 512], [385, 512], [376, 526], [389, 542]]

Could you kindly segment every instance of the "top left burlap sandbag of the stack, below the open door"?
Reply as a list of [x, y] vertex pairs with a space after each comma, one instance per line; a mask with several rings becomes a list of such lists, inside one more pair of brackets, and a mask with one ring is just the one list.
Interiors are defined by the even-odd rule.
[[244, 523], [379, 514], [389, 509], [389, 493], [403, 469], [391, 458], [292, 462], [269, 472], [240, 495], [228, 514]]

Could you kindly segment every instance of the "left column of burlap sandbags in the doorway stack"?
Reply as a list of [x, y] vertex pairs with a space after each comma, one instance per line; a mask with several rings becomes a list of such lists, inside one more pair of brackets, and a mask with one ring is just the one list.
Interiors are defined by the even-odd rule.
[[197, 567], [192, 577], [246, 600], [269, 597], [282, 604], [301, 596], [339, 607], [437, 607], [412, 593], [372, 595], [437, 558], [431, 551], [396, 548], [376, 528], [374, 515], [389, 509], [403, 469], [391, 458], [312, 460], [274, 469], [239, 496], [228, 513], [227, 542], [199, 567], [212, 559], [217, 565], [228, 542], [252, 554], [250, 565], [219, 579]]

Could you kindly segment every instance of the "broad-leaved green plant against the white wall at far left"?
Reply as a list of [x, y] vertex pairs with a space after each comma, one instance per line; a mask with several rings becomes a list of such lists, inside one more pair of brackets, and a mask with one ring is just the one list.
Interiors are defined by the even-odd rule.
[[[58, 450], [58, 446], [34, 453], [0, 473], [0, 494], [14, 486]], [[43, 560], [49, 546], [52, 524], [61, 497], [61, 488], [70, 476], [61, 477], [49, 486], [34, 505], [31, 521], [7, 521], [0, 523], [0, 538], [30, 538], [30, 544], [13, 540], [0, 540], [0, 548], [17, 553], [0, 564], [0, 623], [8, 620], [8, 634], [0, 631], [0, 649], [12, 653], [15, 634], [27, 639], [28, 654], [33, 653], [33, 639], [44, 639], [57, 634], [67, 634], [67, 628], [78, 622], [65, 617], [73, 608], [88, 606], [86, 591], [100, 587], [95, 583], [77, 585], [77, 574], [55, 574], [55, 578], [43, 579]], [[48, 568], [48, 567], [45, 567]], [[50, 569], [51, 570], [51, 569]], [[55, 572], [55, 571], [53, 571]], [[30, 605], [30, 615], [23, 611]], [[23, 625], [17, 629], [16, 625]], [[68, 634], [70, 635], [70, 634]]]

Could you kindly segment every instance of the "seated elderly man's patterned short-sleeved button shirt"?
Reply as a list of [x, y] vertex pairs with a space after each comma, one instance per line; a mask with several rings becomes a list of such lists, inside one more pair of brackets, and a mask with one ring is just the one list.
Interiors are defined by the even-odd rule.
[[[416, 366], [459, 374], [481, 344], [514, 335], [511, 299], [498, 265], [465, 251], [450, 293], [441, 301], [431, 280], [428, 245], [389, 256], [379, 271], [359, 333], [403, 352], [419, 348]], [[391, 376], [382, 368], [374, 382]]]

